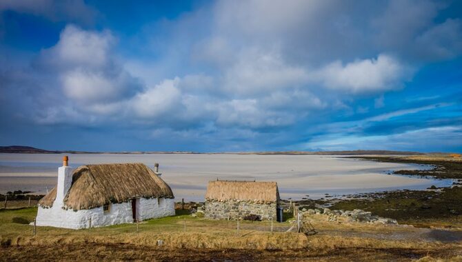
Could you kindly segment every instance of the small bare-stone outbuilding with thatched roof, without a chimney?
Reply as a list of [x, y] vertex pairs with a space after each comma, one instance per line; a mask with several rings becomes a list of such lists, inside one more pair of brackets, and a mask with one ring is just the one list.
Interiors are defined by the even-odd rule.
[[205, 194], [205, 216], [210, 219], [244, 219], [254, 214], [276, 221], [278, 207], [276, 182], [210, 181]]

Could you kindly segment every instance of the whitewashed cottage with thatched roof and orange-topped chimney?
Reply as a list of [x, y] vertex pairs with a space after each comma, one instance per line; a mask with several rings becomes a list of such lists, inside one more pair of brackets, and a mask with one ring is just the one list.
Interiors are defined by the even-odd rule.
[[39, 201], [37, 225], [79, 229], [90, 221], [98, 227], [174, 215], [172, 190], [158, 168], [116, 163], [73, 170], [64, 157], [57, 187]]

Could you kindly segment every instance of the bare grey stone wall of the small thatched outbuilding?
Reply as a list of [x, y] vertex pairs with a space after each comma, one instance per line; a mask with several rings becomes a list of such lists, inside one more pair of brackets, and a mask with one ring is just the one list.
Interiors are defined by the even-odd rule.
[[252, 203], [248, 201], [205, 201], [205, 217], [209, 219], [243, 219], [257, 214], [262, 220], [276, 221], [277, 203]]

